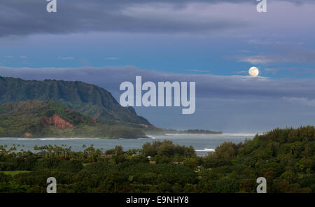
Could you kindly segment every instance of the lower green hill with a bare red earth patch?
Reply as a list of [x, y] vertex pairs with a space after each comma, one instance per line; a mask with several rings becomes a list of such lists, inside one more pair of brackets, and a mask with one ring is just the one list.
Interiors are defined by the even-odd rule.
[[0, 106], [0, 137], [145, 137], [141, 129], [99, 124], [96, 120], [48, 101], [20, 101]]

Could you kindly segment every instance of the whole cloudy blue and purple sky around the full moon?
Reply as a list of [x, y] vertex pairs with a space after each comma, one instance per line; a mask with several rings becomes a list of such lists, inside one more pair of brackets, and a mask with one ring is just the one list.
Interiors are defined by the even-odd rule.
[[[263, 132], [314, 125], [315, 1], [0, 2], [0, 76], [196, 82], [196, 110], [135, 107], [158, 127]], [[260, 76], [250, 78], [256, 66]]]

